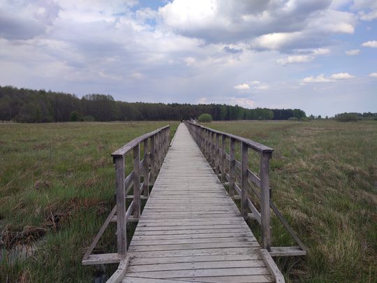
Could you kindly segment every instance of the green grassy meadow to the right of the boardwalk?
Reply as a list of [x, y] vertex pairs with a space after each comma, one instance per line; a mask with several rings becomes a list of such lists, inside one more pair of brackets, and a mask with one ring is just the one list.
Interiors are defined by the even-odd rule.
[[[377, 282], [377, 122], [213, 122], [273, 147], [273, 201], [308, 247], [298, 282]], [[256, 160], [256, 159], [254, 159]], [[258, 168], [250, 164], [251, 168]], [[273, 219], [273, 245], [295, 245]], [[253, 230], [258, 235], [258, 229]]]

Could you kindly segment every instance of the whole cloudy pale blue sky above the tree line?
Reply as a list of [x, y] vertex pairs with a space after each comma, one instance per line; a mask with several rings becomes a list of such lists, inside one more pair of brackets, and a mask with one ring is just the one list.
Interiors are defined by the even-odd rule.
[[0, 85], [377, 112], [377, 0], [0, 0]]

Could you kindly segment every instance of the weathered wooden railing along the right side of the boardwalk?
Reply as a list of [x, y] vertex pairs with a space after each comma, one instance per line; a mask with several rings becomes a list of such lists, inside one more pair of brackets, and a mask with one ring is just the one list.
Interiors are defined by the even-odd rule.
[[[271, 200], [272, 189], [269, 187], [269, 159], [272, 158], [274, 150], [253, 140], [216, 131], [200, 124], [193, 124], [188, 121], [185, 121], [185, 124], [205, 158], [207, 158], [209, 164], [214, 168], [216, 175], [221, 177], [221, 182], [228, 184], [229, 195], [237, 198], [235, 196], [235, 193], [237, 193], [239, 196], [241, 200], [241, 213], [244, 219], [248, 217], [256, 219], [260, 224], [263, 249], [267, 249], [271, 256], [305, 255], [306, 247]], [[237, 143], [240, 147], [240, 160], [235, 158], [235, 145]], [[257, 152], [260, 156], [260, 177], [249, 168], [249, 149]], [[250, 189], [258, 198], [260, 212], [256, 208], [256, 203], [249, 197], [248, 193]], [[281, 224], [283, 224], [295, 242], [297, 242], [298, 247], [272, 247], [270, 209], [272, 209]]]

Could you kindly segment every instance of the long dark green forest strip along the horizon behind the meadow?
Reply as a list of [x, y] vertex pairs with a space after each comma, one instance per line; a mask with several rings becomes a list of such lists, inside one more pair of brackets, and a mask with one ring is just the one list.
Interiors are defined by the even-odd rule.
[[225, 104], [144, 103], [114, 101], [112, 96], [18, 89], [0, 86], [0, 120], [16, 122], [182, 120], [209, 113], [214, 120], [289, 119], [306, 117], [300, 109], [246, 109]]

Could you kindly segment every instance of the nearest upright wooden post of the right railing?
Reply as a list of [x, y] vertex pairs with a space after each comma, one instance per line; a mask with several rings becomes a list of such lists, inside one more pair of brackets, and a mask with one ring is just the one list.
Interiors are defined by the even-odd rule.
[[269, 159], [272, 152], [260, 153], [260, 218], [262, 226], [262, 245], [263, 249], [271, 250], [271, 231], [269, 228]]

